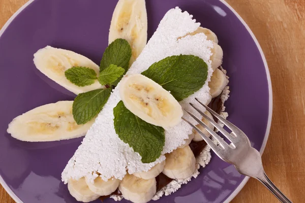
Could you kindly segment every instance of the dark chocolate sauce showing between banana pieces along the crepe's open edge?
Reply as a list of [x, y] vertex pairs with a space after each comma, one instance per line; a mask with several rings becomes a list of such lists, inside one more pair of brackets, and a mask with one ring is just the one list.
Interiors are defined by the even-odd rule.
[[[216, 113], [220, 114], [221, 113], [221, 109], [222, 109], [222, 100], [221, 100], [221, 95], [212, 98], [211, 102], [208, 104], [208, 107], [211, 108], [213, 111], [215, 111]], [[214, 118], [215, 119], [215, 118]], [[216, 120], [217, 121], [217, 120]], [[190, 148], [193, 151], [195, 157], [199, 156], [200, 153], [202, 152], [203, 148], [206, 146], [206, 142], [203, 141], [199, 141], [199, 142], [194, 142], [192, 141], [190, 143]], [[167, 176], [165, 176], [163, 173], [159, 174], [156, 177], [156, 182], [157, 182], [157, 192], [160, 191], [164, 186], [166, 186], [167, 184], [169, 184], [173, 179], [168, 178]], [[101, 196], [100, 199], [103, 201], [104, 199], [110, 197], [111, 195], [121, 195], [120, 191], [118, 189], [116, 189], [114, 192], [112, 192], [110, 195], [107, 196]]]

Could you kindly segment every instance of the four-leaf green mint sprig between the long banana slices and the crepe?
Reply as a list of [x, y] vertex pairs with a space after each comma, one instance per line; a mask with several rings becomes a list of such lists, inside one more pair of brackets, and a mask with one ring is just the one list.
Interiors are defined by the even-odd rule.
[[[100, 64], [100, 75], [88, 67], [72, 67], [65, 72], [66, 78], [73, 84], [83, 87], [98, 80], [106, 87], [117, 85], [128, 70], [131, 47], [126, 40], [116, 39], [105, 50]], [[97, 89], [78, 94], [73, 102], [73, 118], [77, 124], [93, 119], [106, 104], [111, 88]]]

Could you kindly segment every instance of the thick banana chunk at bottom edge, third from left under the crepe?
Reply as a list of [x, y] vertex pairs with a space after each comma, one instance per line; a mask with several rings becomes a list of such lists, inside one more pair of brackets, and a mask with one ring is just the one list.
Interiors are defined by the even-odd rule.
[[156, 179], [144, 180], [134, 175], [126, 174], [118, 186], [123, 197], [134, 203], [146, 203], [157, 192]]

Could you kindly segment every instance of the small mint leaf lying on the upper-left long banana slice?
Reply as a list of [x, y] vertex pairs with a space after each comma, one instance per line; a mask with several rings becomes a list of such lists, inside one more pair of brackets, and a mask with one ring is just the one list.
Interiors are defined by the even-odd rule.
[[66, 78], [73, 84], [83, 87], [92, 85], [97, 79], [97, 73], [88, 67], [75, 66], [65, 71]]

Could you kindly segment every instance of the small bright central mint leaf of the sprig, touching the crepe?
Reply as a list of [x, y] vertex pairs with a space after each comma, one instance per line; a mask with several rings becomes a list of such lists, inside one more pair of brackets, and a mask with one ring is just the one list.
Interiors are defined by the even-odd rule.
[[99, 82], [101, 85], [113, 84], [119, 77], [123, 76], [125, 69], [114, 64], [110, 64], [104, 69], [99, 76]]

